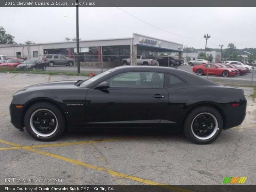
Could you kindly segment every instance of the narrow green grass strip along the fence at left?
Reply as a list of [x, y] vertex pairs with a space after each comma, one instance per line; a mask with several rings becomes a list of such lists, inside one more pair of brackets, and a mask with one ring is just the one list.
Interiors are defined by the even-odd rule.
[[26, 73], [26, 74], [45, 74], [45, 75], [68, 75], [68, 76], [90, 76], [89, 72], [80, 74], [70, 71], [43, 71], [43, 70], [17, 70], [16, 68], [0, 68], [0, 73]]

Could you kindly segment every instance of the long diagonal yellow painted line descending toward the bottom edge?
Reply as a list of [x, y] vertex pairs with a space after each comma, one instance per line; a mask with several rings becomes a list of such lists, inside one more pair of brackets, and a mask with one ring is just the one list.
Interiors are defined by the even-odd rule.
[[[5, 141], [5, 140], [0, 140], [0, 142], [4, 143], [4, 144], [12, 145], [14, 147], [19, 147], [20, 146], [19, 144], [12, 143], [12, 142]], [[189, 190], [189, 189], [186, 189], [186, 188], [174, 187], [174, 186], [158, 183], [158, 182], [151, 181], [151, 180], [144, 180], [140, 177], [134, 177], [132, 175], [119, 173], [119, 172], [116, 172], [116, 171], [113, 171], [113, 170], [110, 170], [110, 169], [106, 169], [106, 168], [103, 168], [103, 167], [97, 167], [95, 165], [90, 165], [90, 164], [84, 163], [82, 161], [71, 159], [71, 158], [68, 158], [68, 157], [65, 157], [65, 156], [60, 156], [60, 155], [56, 155], [56, 154], [53, 154], [53, 153], [48, 153], [48, 152], [45, 152], [45, 151], [39, 151], [39, 150], [36, 150], [36, 149], [31, 148], [29, 146], [27, 146], [27, 148], [22, 148], [22, 149], [28, 150], [28, 151], [31, 151], [31, 152], [35, 152], [35, 153], [38, 153], [38, 154], [41, 154], [41, 155], [54, 157], [54, 158], [57, 158], [57, 159], [60, 159], [60, 160], [63, 160], [63, 161], [67, 161], [67, 162], [70, 162], [70, 163], [73, 163], [73, 164], [82, 165], [84, 167], [88, 167], [88, 168], [91, 168], [91, 169], [94, 169], [94, 170], [97, 170], [97, 171], [105, 171], [105, 172], [108, 172], [110, 175], [115, 176], [115, 177], [126, 178], [126, 179], [130, 179], [130, 180], [138, 181], [140, 183], [145, 183], [145, 184], [148, 184], [148, 185], [159, 185], [161, 187], [168, 188], [168, 189], [171, 189], [171, 190], [174, 190], [174, 191], [195, 192], [195, 191], [192, 191], [192, 190]]]

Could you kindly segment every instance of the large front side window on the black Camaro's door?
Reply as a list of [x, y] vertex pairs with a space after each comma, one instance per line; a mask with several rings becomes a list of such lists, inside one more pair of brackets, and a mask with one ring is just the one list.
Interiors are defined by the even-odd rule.
[[157, 88], [164, 87], [164, 73], [126, 72], [107, 80], [109, 87]]

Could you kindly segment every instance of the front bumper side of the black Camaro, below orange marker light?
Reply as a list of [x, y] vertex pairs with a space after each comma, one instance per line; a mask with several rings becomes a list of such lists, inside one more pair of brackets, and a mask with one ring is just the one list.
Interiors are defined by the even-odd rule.
[[13, 126], [17, 129], [22, 129], [22, 122], [21, 122], [21, 118], [22, 118], [22, 111], [23, 108], [16, 108], [16, 105], [10, 105], [9, 106], [9, 111], [10, 111], [10, 116], [11, 116], [11, 123], [13, 124]]

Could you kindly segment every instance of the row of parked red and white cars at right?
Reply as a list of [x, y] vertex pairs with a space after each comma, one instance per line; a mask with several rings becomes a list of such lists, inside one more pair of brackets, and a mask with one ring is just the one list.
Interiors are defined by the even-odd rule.
[[202, 64], [193, 67], [193, 72], [197, 75], [219, 75], [223, 77], [241, 76], [249, 73], [249, 69], [245, 67], [237, 67], [234, 64]]

